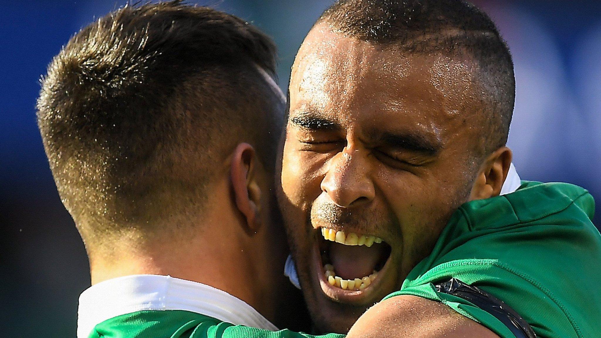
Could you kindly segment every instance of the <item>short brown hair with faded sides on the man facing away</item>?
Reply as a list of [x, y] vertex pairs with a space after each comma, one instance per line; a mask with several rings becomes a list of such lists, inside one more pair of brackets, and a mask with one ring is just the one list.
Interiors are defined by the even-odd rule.
[[181, 1], [127, 5], [70, 39], [42, 79], [37, 118], [88, 252], [201, 210], [240, 142], [274, 170], [285, 108], [275, 57], [254, 26]]

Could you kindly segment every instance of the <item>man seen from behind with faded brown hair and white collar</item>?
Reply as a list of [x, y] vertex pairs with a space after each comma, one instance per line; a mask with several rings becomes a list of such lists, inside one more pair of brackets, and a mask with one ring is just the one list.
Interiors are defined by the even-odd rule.
[[38, 124], [90, 259], [79, 338], [301, 336], [268, 331], [302, 313], [282, 274], [274, 69], [257, 28], [179, 1], [110, 13], [54, 58]]

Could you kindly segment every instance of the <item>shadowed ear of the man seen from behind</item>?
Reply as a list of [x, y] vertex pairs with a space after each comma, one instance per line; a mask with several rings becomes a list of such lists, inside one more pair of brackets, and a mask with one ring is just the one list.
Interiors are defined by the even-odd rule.
[[230, 181], [236, 207], [242, 213], [248, 230], [254, 232], [261, 225], [261, 189], [257, 183], [256, 153], [248, 143], [240, 143], [231, 159]]

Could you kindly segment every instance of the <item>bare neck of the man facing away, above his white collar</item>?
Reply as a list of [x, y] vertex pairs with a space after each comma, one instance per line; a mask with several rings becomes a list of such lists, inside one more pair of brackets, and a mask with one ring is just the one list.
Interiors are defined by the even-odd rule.
[[[266, 278], [268, 270], [281, 275], [279, 267], [268, 266], [264, 247], [249, 242], [240, 230], [234, 213], [219, 217], [204, 215], [200, 229], [181, 239], [139, 244], [121, 240], [110, 257], [90, 253], [92, 284], [111, 278], [136, 274], [171, 275], [224, 290], [254, 307], [273, 322], [278, 278]], [[211, 221], [209, 221], [211, 220]], [[283, 262], [282, 262], [283, 267]]]

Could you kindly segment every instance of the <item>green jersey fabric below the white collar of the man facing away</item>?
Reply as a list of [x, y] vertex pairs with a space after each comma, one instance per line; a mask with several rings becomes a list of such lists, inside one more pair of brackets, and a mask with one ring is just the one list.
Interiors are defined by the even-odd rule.
[[183, 310], [127, 313], [96, 325], [88, 338], [342, 338], [341, 334], [311, 336], [290, 330], [268, 331], [234, 325]]

